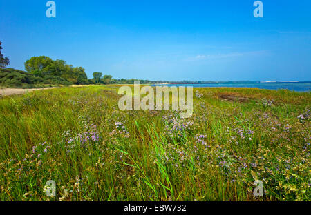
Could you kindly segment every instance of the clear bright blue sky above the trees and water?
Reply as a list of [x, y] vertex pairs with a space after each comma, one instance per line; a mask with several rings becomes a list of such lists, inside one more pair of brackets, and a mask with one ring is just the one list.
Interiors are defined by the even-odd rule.
[[32, 56], [64, 59], [114, 78], [311, 80], [311, 1], [0, 0], [10, 67]]

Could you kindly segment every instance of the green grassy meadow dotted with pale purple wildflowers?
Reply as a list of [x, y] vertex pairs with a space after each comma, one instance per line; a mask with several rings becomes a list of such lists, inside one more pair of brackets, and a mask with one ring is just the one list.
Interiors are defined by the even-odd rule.
[[122, 112], [117, 88], [3, 96], [0, 201], [311, 200], [310, 93], [194, 88], [180, 119]]

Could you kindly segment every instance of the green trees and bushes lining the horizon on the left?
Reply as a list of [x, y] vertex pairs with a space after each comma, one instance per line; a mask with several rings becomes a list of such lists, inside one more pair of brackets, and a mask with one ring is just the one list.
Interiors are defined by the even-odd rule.
[[[31, 57], [24, 65], [25, 70], [6, 68], [10, 64], [8, 57], [4, 57], [0, 41], [0, 85], [6, 87], [42, 87], [42, 85], [87, 85], [87, 84], [141, 84], [176, 83], [176, 81], [149, 81], [140, 79], [113, 79], [109, 74], [94, 72], [93, 79], [88, 79], [85, 69], [74, 67], [64, 60], [53, 60], [50, 57]], [[180, 82], [180, 81], [179, 81]], [[189, 81], [181, 81], [189, 83]]]

